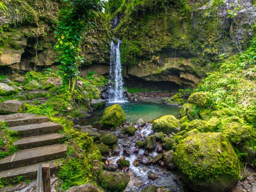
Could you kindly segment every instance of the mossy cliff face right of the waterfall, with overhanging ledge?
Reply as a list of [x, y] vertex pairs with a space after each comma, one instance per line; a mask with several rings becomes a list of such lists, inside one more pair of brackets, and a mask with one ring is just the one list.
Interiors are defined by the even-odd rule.
[[138, 86], [194, 88], [214, 61], [248, 46], [256, 18], [248, 0], [114, 0], [109, 10], [120, 21], [114, 36], [122, 39], [126, 80]]

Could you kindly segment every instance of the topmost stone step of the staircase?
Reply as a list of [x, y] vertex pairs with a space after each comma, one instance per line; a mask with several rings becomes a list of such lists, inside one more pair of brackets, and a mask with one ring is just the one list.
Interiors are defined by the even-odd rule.
[[48, 122], [48, 117], [33, 113], [16, 113], [11, 115], [0, 115], [0, 121], [6, 122], [8, 126], [21, 126], [35, 123]]

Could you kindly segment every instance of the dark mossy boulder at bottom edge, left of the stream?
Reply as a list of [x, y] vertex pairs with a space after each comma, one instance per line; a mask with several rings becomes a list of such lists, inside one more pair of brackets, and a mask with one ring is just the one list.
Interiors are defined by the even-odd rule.
[[123, 191], [128, 182], [130, 181], [130, 175], [122, 172], [109, 172], [103, 171], [99, 177], [100, 185], [110, 192]]

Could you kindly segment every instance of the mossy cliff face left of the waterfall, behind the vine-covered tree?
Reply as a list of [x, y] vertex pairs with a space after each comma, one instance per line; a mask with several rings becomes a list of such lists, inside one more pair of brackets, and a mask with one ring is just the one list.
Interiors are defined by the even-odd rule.
[[[30, 71], [58, 65], [53, 45], [54, 21], [61, 0], [4, 0], [7, 12], [0, 12], [1, 72]], [[108, 61], [110, 24], [104, 14], [95, 21], [95, 30], [84, 34], [85, 64]]]

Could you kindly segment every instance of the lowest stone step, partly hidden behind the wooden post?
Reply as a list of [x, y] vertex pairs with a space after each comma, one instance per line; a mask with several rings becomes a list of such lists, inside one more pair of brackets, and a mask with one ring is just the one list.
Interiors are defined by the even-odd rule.
[[[48, 162], [42, 162], [42, 163], [48, 163], [50, 165], [50, 174], [56, 174], [60, 166], [62, 165], [62, 159], [52, 160]], [[25, 179], [36, 179], [37, 177], [37, 171], [38, 171], [38, 165], [42, 163], [32, 164], [28, 166], [23, 166], [19, 168], [9, 169], [0, 172], [0, 178], [4, 180], [10, 180], [12, 181], [12, 178], [17, 176], [25, 176], [23, 180]]]

